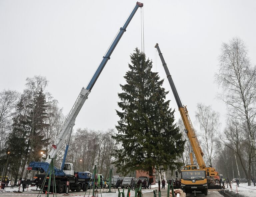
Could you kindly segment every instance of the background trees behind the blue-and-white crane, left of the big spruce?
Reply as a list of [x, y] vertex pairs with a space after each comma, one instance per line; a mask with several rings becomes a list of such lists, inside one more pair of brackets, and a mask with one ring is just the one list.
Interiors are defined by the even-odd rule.
[[[47, 85], [45, 77], [34, 76], [26, 79], [22, 93], [0, 92], [0, 176], [14, 181], [33, 178], [38, 172], [26, 170], [29, 162], [44, 161], [60, 133], [64, 115], [58, 101], [46, 90]], [[93, 164], [98, 164], [99, 171], [107, 176], [115, 148], [113, 133], [78, 129], [71, 135], [66, 161], [72, 162], [76, 171], [92, 170]], [[65, 145], [58, 152], [57, 167], [61, 165]]]

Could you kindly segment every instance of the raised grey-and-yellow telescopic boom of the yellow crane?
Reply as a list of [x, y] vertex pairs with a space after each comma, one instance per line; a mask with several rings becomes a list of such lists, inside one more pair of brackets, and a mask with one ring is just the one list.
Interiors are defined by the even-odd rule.
[[[214, 180], [214, 178], [216, 179], [219, 176], [219, 173], [212, 166], [206, 167], [204, 159], [203, 159], [203, 155], [204, 154], [202, 152], [202, 149], [200, 147], [200, 143], [199, 143], [199, 141], [197, 139], [195, 130], [194, 130], [193, 125], [191, 123], [191, 120], [189, 118], [188, 110], [187, 110], [186, 106], [183, 106], [182, 103], [181, 103], [181, 100], [180, 100], [180, 97], [178, 95], [177, 89], [176, 89], [176, 87], [175, 87], [175, 85], [173, 83], [172, 77], [170, 75], [169, 69], [168, 69], [168, 67], [166, 65], [166, 62], [164, 60], [163, 54], [161, 53], [161, 50], [160, 50], [160, 48], [158, 46], [158, 43], [155, 45], [155, 48], [157, 49], [157, 51], [159, 53], [159, 56], [160, 56], [161, 62], [163, 64], [165, 73], [167, 75], [167, 79], [169, 81], [169, 84], [171, 86], [171, 89], [172, 89], [175, 101], [176, 101], [176, 103], [178, 105], [178, 109], [180, 111], [180, 115], [181, 115], [182, 121], [183, 121], [184, 126], [186, 128], [186, 133], [187, 133], [189, 142], [190, 142], [190, 144], [191, 144], [191, 146], [193, 148], [193, 151], [194, 151], [194, 154], [195, 154], [195, 157], [196, 157], [199, 169], [205, 170], [206, 173], [207, 173], [207, 176], [211, 177]], [[190, 144], [189, 144], [189, 148], [190, 148]], [[192, 158], [191, 150], [190, 150], [190, 160], [191, 160], [191, 165], [186, 165], [184, 167], [184, 170], [195, 170], [196, 169], [196, 166], [193, 165], [193, 158]], [[208, 181], [208, 187], [210, 185], [211, 186], [215, 185], [215, 183], [210, 183], [210, 181]], [[211, 188], [216, 189], [216, 188], [219, 188], [219, 187], [217, 186], [217, 187], [211, 187]], [[211, 188], [209, 187], [209, 189], [211, 189]]]

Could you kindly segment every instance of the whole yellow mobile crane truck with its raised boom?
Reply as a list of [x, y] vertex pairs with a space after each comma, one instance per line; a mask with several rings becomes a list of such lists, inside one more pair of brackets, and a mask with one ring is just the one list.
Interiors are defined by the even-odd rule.
[[[183, 170], [181, 170], [181, 189], [186, 193], [202, 192], [204, 195], [207, 195], [208, 189], [221, 189], [221, 186], [217, 184], [214, 180], [219, 179], [219, 173], [212, 166], [206, 167], [203, 160], [203, 152], [200, 147], [199, 141], [197, 139], [195, 130], [191, 123], [191, 120], [188, 115], [186, 106], [183, 106], [176, 90], [176, 87], [173, 83], [172, 77], [170, 75], [169, 69], [165, 63], [163, 55], [160, 51], [158, 44], [155, 45], [159, 53], [160, 59], [162, 61], [167, 79], [170, 83], [174, 98], [178, 105], [181, 118], [183, 120], [184, 126], [186, 128], [186, 133], [189, 139], [189, 149], [190, 149], [190, 160], [191, 164], [186, 165]], [[199, 169], [193, 163], [193, 157], [191, 152], [191, 146], [194, 151]]]

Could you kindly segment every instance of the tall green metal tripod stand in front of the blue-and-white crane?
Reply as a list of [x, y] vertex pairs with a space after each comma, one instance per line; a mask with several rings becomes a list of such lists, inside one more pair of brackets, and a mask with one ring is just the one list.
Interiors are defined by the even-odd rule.
[[[50, 156], [49, 156], [50, 158]], [[42, 193], [43, 193], [43, 189], [44, 189], [44, 186], [45, 186], [45, 182], [46, 182], [46, 179], [47, 179], [47, 176], [48, 176], [48, 173], [49, 173], [49, 180], [48, 180], [48, 186], [47, 186], [47, 194], [46, 194], [46, 197], [49, 197], [49, 193], [50, 193], [50, 187], [51, 187], [51, 178], [52, 178], [52, 188], [53, 188], [53, 197], [54, 197], [54, 194], [55, 194], [55, 197], [57, 197], [57, 192], [56, 192], [56, 182], [55, 182], [55, 173], [54, 173], [54, 158], [50, 158], [52, 159], [51, 160], [51, 163], [50, 163], [50, 166], [45, 174], [45, 177], [44, 177], [44, 180], [43, 180], [43, 184], [40, 188], [40, 191], [38, 192], [38, 195], [37, 197], [41, 197]]]

